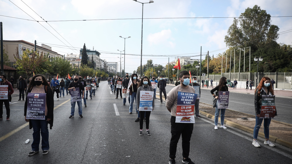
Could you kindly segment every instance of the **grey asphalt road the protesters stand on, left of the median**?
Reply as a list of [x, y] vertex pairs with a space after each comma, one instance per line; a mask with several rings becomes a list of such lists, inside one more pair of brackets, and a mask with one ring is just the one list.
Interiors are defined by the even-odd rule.
[[[75, 107], [75, 117], [71, 119], [71, 105], [66, 102], [69, 95], [55, 100], [57, 108], [53, 129], [49, 129], [49, 153], [39, 152], [34, 156], [27, 156], [33, 130], [24, 125], [24, 101], [13, 97], [11, 120], [0, 121], [0, 163], [168, 163], [171, 115], [165, 104], [157, 100], [151, 112], [152, 135], [145, 135], [144, 123], [144, 135], [139, 136], [139, 123], [134, 122], [137, 114], [128, 114], [129, 104], [123, 106], [123, 100], [115, 97], [103, 81], [93, 99], [87, 100], [87, 107], [83, 107], [84, 117], [77, 117]], [[5, 112], [4, 107], [4, 117]], [[205, 117], [195, 121], [190, 141], [190, 158], [195, 163], [291, 163], [291, 149], [279, 144], [275, 144], [276, 147], [264, 145], [260, 138], [261, 148], [256, 148], [248, 133], [228, 126], [227, 130], [214, 130], [213, 121]], [[31, 141], [25, 144], [27, 139]], [[181, 154], [180, 139], [177, 163], [181, 163]]]

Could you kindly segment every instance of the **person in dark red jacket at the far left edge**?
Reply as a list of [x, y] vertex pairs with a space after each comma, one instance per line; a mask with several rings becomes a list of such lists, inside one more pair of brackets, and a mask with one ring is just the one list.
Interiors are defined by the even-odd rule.
[[[5, 105], [5, 108], [6, 108], [6, 121], [9, 121], [10, 120], [10, 103], [11, 103], [11, 100], [10, 100], [10, 97], [12, 95], [12, 93], [14, 92], [13, 88], [12, 88], [12, 85], [10, 82], [6, 81], [6, 76], [4, 74], [0, 75], [0, 85], [7, 85], [8, 88], [7, 88], [7, 91], [8, 91], [8, 95], [7, 95], [7, 99], [0, 99], [0, 120], [3, 120], [3, 103]], [[4, 91], [4, 90], [2, 90]], [[10, 103], [9, 103], [10, 102]]]

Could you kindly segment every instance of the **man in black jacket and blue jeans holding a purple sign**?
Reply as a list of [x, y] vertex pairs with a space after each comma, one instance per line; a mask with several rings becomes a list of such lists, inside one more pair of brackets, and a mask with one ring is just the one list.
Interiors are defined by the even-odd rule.
[[[80, 76], [79, 76], [80, 77]], [[79, 78], [80, 80], [80, 78]], [[82, 83], [80, 81], [78, 81], [78, 75], [74, 76], [74, 82], [69, 84], [68, 90], [70, 89], [75, 89], [75, 88], [79, 88], [79, 92], [80, 92], [80, 97], [81, 99], [84, 98], [84, 86], [82, 85]], [[74, 117], [74, 113], [75, 113], [75, 104], [77, 102], [78, 105], [78, 114], [80, 118], [83, 118], [82, 116], [82, 101], [75, 101], [75, 102], [71, 102], [71, 115], [69, 116], [69, 118], [73, 118]]]

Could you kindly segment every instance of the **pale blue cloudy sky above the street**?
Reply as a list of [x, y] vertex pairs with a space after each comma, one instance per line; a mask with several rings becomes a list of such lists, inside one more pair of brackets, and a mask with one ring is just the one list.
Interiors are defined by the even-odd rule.
[[[24, 3], [21, 0], [10, 1], [0, 0], [0, 15], [29, 20], [34, 18], [37, 21], [41, 21], [42, 18], [46, 21], [142, 18], [142, 4], [133, 0], [22, 0]], [[140, 2], [149, 1], [140, 0]], [[254, 5], [260, 6], [271, 16], [292, 16], [291, 0], [154, 0], [154, 3], [144, 4], [143, 18], [184, 18], [143, 19], [142, 54], [152, 56], [142, 55], [142, 64], [152, 59], [154, 64], [165, 66], [168, 64], [168, 57], [170, 62], [180, 56], [199, 59], [197, 55], [200, 54], [201, 46], [202, 54], [226, 48], [224, 37], [233, 18], [214, 17], [238, 17], [246, 8], [252, 8]], [[93, 49], [94, 46], [94, 50], [101, 53], [101, 59], [107, 62], [119, 62], [118, 50], [124, 50], [124, 39], [119, 36], [124, 38], [131, 36], [126, 39], [125, 71], [133, 72], [140, 66], [141, 19], [48, 23], [29, 20], [0, 16], [0, 21], [3, 22], [4, 40], [25, 40], [31, 43], [36, 40], [39, 46], [41, 43], [46, 43], [61, 55], [79, 54], [80, 48], [83, 48], [85, 43], [88, 49]], [[292, 29], [292, 17], [271, 18], [271, 20], [271, 24], [279, 27], [279, 32]], [[291, 38], [292, 32], [288, 32], [279, 35], [277, 42], [291, 44]], [[65, 44], [77, 48], [69, 49]], [[224, 50], [215, 51], [210, 55], [215, 57], [222, 51]], [[124, 58], [122, 58], [123, 62]]]

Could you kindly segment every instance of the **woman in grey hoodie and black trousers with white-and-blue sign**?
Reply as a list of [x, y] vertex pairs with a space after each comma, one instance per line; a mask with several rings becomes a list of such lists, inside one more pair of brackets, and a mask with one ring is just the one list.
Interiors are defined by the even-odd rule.
[[139, 135], [143, 135], [142, 129], [144, 115], [146, 118], [146, 134], [151, 135], [151, 133], [149, 132], [149, 118], [151, 111], [154, 110], [154, 90], [151, 86], [150, 79], [147, 76], [142, 77], [139, 83], [136, 104], [141, 116]]

